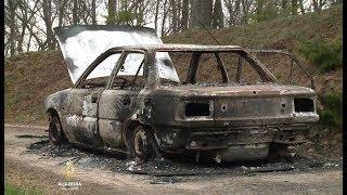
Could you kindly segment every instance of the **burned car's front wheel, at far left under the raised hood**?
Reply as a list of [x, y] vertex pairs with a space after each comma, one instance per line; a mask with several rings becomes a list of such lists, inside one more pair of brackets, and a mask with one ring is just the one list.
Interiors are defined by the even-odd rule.
[[59, 116], [52, 115], [49, 123], [49, 141], [53, 147], [67, 142]]

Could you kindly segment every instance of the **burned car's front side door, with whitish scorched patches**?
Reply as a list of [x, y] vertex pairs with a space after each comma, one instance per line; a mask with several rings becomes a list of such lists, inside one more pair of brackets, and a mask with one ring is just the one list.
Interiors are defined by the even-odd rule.
[[[98, 77], [100, 72], [99, 64], [102, 65], [106, 60], [111, 66], [115, 66], [118, 57], [105, 56], [94, 67], [85, 75], [75, 88], [70, 89], [67, 96], [67, 115], [65, 117], [65, 127], [67, 128], [67, 136], [72, 142], [85, 144], [88, 146], [103, 146], [102, 139], [99, 135], [99, 102], [101, 93], [107, 88], [110, 81], [110, 74]], [[113, 62], [110, 62], [110, 58]], [[93, 75], [94, 74], [94, 75]], [[100, 73], [99, 73], [100, 74]], [[89, 78], [89, 76], [93, 77]]]

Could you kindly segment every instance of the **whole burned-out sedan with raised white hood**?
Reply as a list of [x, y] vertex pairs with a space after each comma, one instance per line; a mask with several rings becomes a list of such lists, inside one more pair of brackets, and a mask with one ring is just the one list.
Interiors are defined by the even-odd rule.
[[55, 34], [74, 86], [46, 99], [52, 145], [141, 160], [185, 152], [261, 159], [306, 142], [319, 119], [313, 89], [279, 83], [237, 46], [163, 44], [150, 28], [125, 26]]

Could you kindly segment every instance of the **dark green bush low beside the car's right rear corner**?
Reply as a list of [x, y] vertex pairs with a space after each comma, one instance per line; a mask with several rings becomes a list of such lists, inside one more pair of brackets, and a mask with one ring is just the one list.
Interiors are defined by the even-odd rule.
[[320, 123], [325, 127], [339, 127], [343, 120], [343, 99], [340, 93], [329, 92], [319, 96], [323, 109], [319, 109]]

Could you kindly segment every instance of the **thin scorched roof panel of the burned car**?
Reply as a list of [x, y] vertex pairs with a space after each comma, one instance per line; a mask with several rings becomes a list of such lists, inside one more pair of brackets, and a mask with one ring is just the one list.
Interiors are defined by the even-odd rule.
[[138, 44], [138, 46], [124, 46], [115, 47], [112, 50], [154, 50], [154, 51], [235, 51], [244, 49], [239, 46], [207, 46], [207, 44]]

